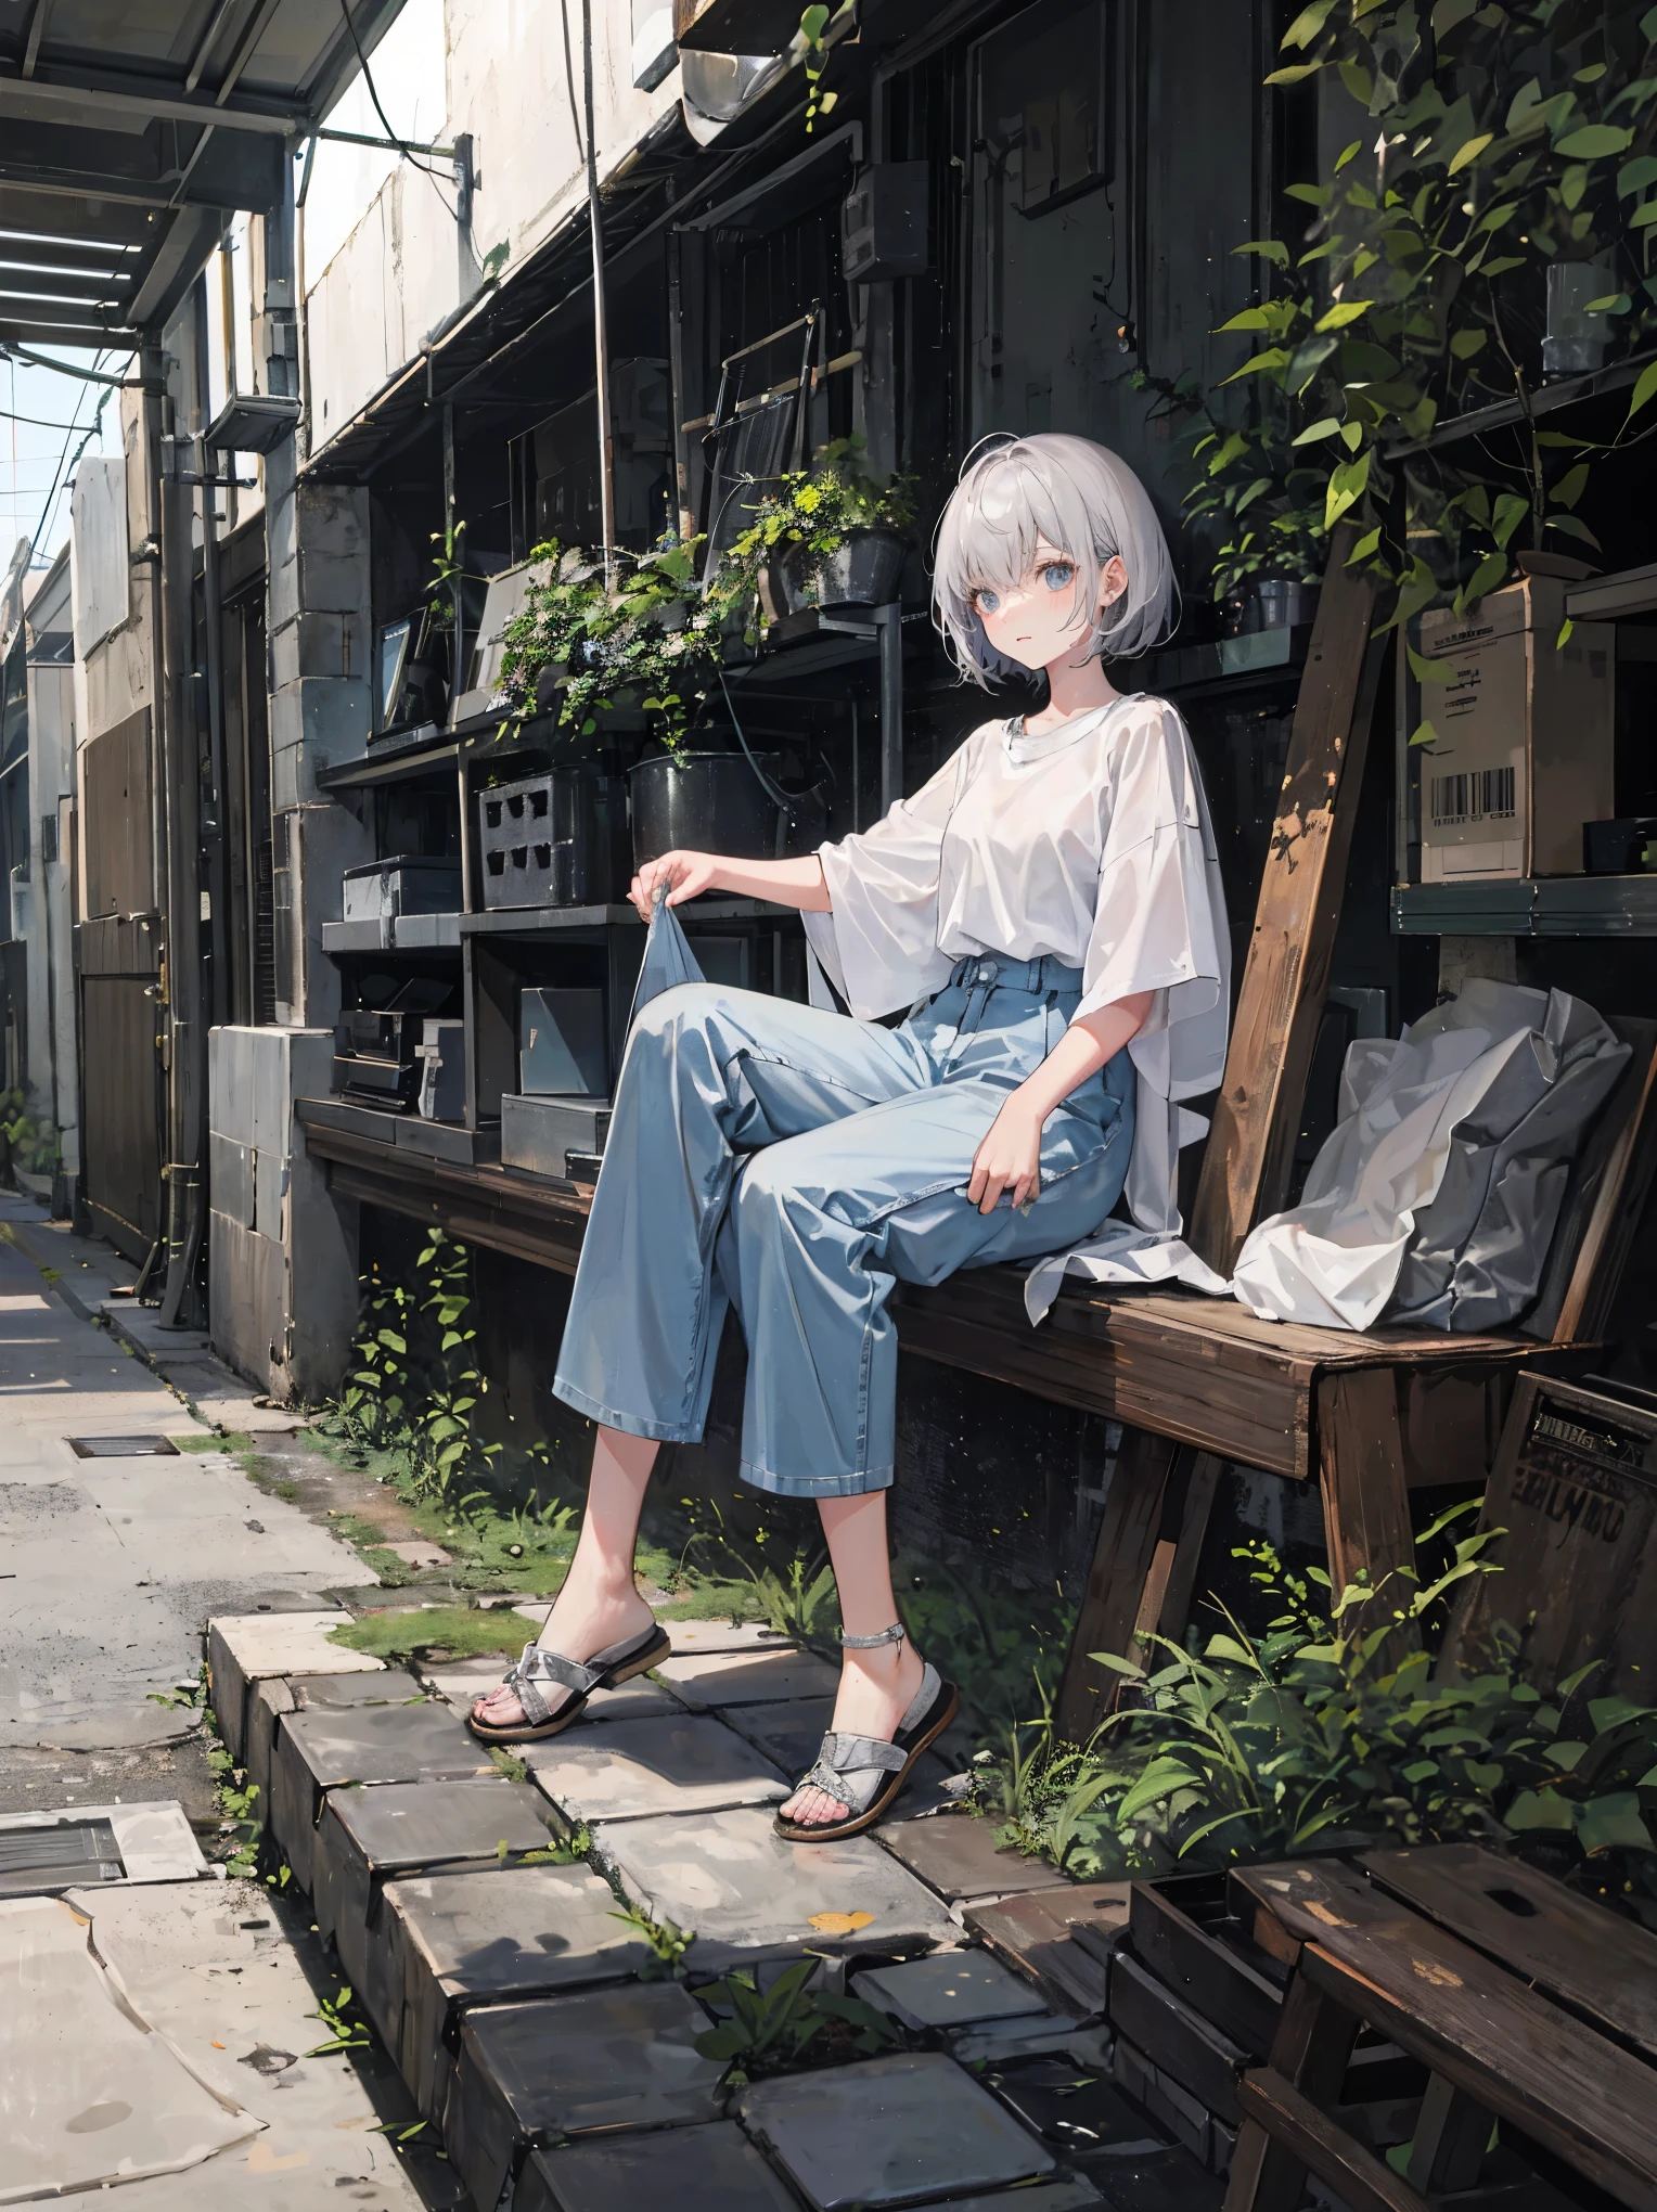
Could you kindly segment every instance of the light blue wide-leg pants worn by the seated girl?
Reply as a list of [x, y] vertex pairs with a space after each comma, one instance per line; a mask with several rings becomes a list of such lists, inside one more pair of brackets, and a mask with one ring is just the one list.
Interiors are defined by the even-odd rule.
[[628, 1436], [697, 1442], [732, 1303], [743, 1478], [785, 1498], [885, 1489], [894, 1281], [1060, 1252], [1122, 1192], [1126, 1053], [1049, 1117], [1033, 1206], [967, 1201], [973, 1152], [1080, 989], [1053, 960], [962, 960], [896, 1029], [708, 982], [653, 998], [615, 1091], [557, 1396]]

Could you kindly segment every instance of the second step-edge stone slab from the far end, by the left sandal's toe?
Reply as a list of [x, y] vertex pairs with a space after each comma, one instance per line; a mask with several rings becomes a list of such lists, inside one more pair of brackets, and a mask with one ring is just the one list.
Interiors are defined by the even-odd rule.
[[323, 1792], [345, 1783], [489, 1778], [493, 1761], [442, 1705], [356, 1705], [288, 1712], [270, 1763], [270, 1827], [299, 1887], [316, 1896]]

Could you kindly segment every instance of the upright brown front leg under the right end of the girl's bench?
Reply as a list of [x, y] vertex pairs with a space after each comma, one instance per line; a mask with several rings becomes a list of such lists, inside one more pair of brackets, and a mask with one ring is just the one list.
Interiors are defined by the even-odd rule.
[[[1365, 1617], [1372, 1624], [1387, 1619], [1414, 1595], [1411, 1584], [1387, 1577], [1416, 1564], [1398, 1385], [1389, 1367], [1347, 1369], [1319, 1385], [1319, 1482], [1334, 1593], [1367, 1575], [1376, 1597]], [[1418, 1637], [1400, 1628], [1394, 1641], [1409, 1646]]]

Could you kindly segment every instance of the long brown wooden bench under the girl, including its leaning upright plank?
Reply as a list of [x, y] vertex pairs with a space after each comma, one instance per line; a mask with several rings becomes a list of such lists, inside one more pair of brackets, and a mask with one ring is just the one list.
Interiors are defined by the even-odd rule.
[[[1257, 1219], [1288, 1199], [1305, 1075], [1330, 980], [1352, 823], [1385, 644], [1374, 584], [1336, 531], [1294, 710], [1226, 1075], [1190, 1239], [1230, 1274]], [[1228, 1460], [1316, 1480], [1336, 1588], [1414, 1562], [1411, 1486], [1487, 1473], [1518, 1376], [1580, 1367], [1604, 1327], [1657, 1166], [1657, 1024], [1624, 1024], [1635, 1057], [1573, 1177], [1526, 1329], [1310, 1329], [1186, 1292], [1066, 1283], [1031, 1329], [1018, 1270], [969, 1270], [894, 1301], [905, 1349], [1122, 1420], [1126, 1433], [1057, 1701], [1086, 1739], [1119, 1677], [1091, 1652], [1177, 1632]], [[573, 1272], [591, 1194], [502, 1168], [460, 1168], [325, 1126], [305, 1141], [341, 1197]]]

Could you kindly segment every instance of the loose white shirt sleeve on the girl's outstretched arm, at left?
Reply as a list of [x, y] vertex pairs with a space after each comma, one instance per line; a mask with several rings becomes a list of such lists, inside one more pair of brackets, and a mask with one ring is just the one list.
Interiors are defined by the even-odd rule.
[[827, 914], [805, 914], [823, 971], [858, 1020], [914, 1006], [949, 982], [938, 951], [942, 836], [976, 763], [976, 737], [874, 827], [823, 845]]

